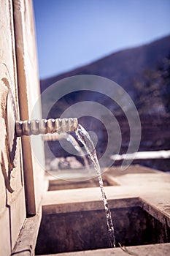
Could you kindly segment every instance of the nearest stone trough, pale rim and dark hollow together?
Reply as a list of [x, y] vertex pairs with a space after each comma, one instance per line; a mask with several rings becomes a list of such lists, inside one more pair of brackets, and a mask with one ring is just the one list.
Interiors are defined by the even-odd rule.
[[99, 188], [77, 182], [74, 189], [45, 193], [36, 255], [125, 255], [120, 244], [132, 255], [168, 255], [170, 175], [134, 165], [124, 172], [111, 168], [104, 179], [117, 248], [109, 248]]

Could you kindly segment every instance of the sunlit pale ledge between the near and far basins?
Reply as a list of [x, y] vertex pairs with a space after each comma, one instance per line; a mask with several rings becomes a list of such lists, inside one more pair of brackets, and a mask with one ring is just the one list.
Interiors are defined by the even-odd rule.
[[[168, 173], [131, 165], [125, 171], [121, 171], [120, 167], [112, 167], [104, 173], [104, 176], [108, 176], [109, 180], [112, 179], [119, 184], [119, 186], [104, 187], [108, 200], [140, 197], [144, 202], [170, 217], [170, 175]], [[77, 206], [78, 203], [85, 203], [88, 206], [88, 203], [93, 205], [94, 201], [98, 201], [102, 206], [99, 187], [76, 189], [75, 183], [75, 189], [45, 192], [42, 206], [43, 211], [50, 211], [54, 206], [56, 211], [60, 211], [61, 206]]]

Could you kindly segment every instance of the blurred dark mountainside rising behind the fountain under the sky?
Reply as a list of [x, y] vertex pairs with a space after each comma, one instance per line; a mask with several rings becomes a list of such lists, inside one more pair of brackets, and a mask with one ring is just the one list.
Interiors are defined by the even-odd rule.
[[[139, 151], [170, 148], [168, 132], [170, 128], [170, 36], [150, 42], [147, 45], [120, 50], [91, 64], [41, 80], [41, 91], [63, 78], [74, 75], [98, 75], [109, 78], [128, 92], [136, 105], [142, 122], [142, 140]], [[48, 100], [50, 101], [50, 98], [53, 97], [54, 95], [49, 96]], [[74, 92], [66, 95], [53, 105], [48, 118], [58, 118], [66, 108], [85, 100], [94, 100], [114, 113], [120, 124], [123, 138], [120, 153], [125, 153], [129, 139], [128, 121], [123, 111], [103, 94], [81, 91], [81, 94]], [[42, 109], [47, 108], [47, 105], [48, 102], [44, 102]], [[80, 121], [86, 129], [93, 130], [98, 138], [101, 138], [96, 149], [98, 155], [102, 155], [107, 147], [107, 134], [104, 127], [99, 124], [96, 118], [92, 120], [89, 117], [82, 117]], [[56, 157], [67, 155], [66, 152], [61, 151], [59, 145], [54, 146], [53, 143], [49, 143], [49, 145]], [[170, 170], [169, 159], [147, 160], [139, 163], [160, 170]]]

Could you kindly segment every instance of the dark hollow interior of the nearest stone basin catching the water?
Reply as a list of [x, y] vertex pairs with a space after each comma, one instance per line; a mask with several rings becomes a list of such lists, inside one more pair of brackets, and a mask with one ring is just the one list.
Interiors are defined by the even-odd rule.
[[[168, 243], [169, 219], [139, 197], [110, 200], [116, 246]], [[102, 203], [93, 202], [60, 208], [45, 207], [36, 243], [36, 255], [109, 248], [107, 223]], [[74, 210], [76, 209], [76, 210]]]

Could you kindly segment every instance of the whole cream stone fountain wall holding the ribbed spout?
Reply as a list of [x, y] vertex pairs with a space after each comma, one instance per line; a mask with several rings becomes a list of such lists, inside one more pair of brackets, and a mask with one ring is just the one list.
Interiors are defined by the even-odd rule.
[[39, 211], [44, 172], [34, 159], [29, 138], [18, 139], [19, 156], [16, 167], [12, 165], [7, 133], [8, 92], [14, 97], [18, 119], [31, 117], [39, 96], [32, 3], [0, 1], [0, 15], [0, 254], [7, 256], [26, 214]]

